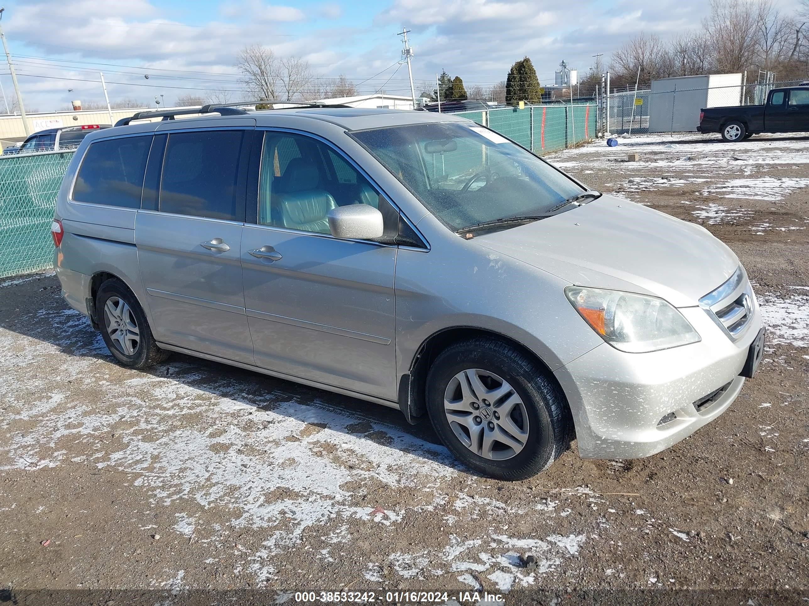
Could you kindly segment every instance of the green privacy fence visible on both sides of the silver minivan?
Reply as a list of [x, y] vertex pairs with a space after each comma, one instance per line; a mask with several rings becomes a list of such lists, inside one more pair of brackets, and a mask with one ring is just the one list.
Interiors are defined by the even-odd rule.
[[[544, 105], [460, 112], [546, 154], [595, 137], [595, 105]], [[50, 267], [53, 206], [73, 151], [0, 158], [0, 278]]]

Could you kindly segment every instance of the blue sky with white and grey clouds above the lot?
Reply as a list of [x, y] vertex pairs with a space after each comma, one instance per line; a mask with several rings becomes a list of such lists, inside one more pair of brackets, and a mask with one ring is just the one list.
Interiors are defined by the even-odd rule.
[[[396, 32], [403, 24], [412, 30], [417, 81], [447, 69], [467, 86], [487, 87], [505, 79], [511, 63], [527, 55], [540, 82], [553, 82], [562, 59], [584, 73], [592, 55], [608, 59], [636, 32], [665, 37], [696, 27], [708, 5], [705, 0], [273, 2], [6, 0], [2, 27], [26, 106], [49, 111], [66, 108], [71, 99], [101, 101], [100, 69], [111, 99], [154, 105], [155, 95], [164, 95], [169, 105], [180, 95], [205, 95], [204, 89], [229, 90], [231, 98], [243, 99], [235, 57], [252, 43], [301, 56], [322, 78], [345, 74], [362, 93], [409, 95], [406, 66], [396, 71], [401, 50]], [[792, 2], [782, 5], [787, 3]], [[7, 72], [0, 68], [11, 103]]]

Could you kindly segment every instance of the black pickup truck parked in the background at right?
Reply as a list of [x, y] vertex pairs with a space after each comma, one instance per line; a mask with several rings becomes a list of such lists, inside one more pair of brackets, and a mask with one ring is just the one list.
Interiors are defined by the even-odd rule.
[[700, 133], [721, 133], [725, 141], [742, 141], [758, 133], [809, 132], [809, 86], [773, 88], [765, 105], [706, 107]]

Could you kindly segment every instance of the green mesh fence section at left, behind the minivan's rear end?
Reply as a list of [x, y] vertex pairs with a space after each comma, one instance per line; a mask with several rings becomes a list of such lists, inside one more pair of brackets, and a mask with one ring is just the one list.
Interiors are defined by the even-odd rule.
[[52, 265], [53, 206], [73, 154], [0, 158], [0, 278]]

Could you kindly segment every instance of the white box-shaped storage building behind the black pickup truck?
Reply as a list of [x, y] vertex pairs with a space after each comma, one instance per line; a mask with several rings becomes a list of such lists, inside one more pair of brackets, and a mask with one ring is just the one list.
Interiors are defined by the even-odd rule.
[[649, 95], [649, 132], [696, 131], [703, 107], [739, 105], [741, 98], [742, 74], [706, 74], [654, 80]]

